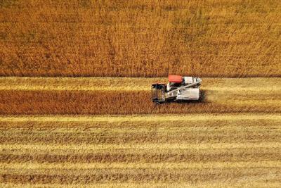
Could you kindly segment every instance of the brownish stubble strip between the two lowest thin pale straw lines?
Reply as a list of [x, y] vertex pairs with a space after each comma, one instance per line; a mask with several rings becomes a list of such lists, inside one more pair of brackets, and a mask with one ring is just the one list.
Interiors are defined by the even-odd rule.
[[[150, 146], [151, 144], [149, 144]], [[216, 144], [218, 146], [219, 144]], [[251, 146], [253, 145], [253, 146]], [[28, 149], [25, 147], [29, 146]], [[72, 147], [79, 145], [72, 145]], [[33, 145], [4, 145], [0, 154], [1, 163], [227, 163], [275, 161], [281, 157], [280, 146], [274, 143], [248, 144], [244, 147], [224, 144], [225, 148], [214, 148], [214, 144], [201, 144], [192, 149], [166, 148], [126, 148], [126, 149], [85, 149], [72, 150], [63, 146], [51, 147], [41, 144], [41, 148]], [[93, 146], [93, 145], [91, 145]], [[107, 145], [105, 145], [107, 146]], [[159, 146], [162, 146], [159, 144]], [[207, 148], [207, 146], [210, 146]], [[271, 148], [272, 146], [272, 148]], [[23, 149], [21, 149], [23, 148]]]

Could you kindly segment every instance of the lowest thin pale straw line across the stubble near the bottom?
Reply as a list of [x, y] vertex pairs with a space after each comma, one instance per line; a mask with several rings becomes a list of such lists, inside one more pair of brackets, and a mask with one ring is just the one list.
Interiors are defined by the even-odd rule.
[[109, 169], [109, 168], [281, 168], [281, 161], [204, 162], [204, 163], [0, 163], [0, 170], [9, 169]]

